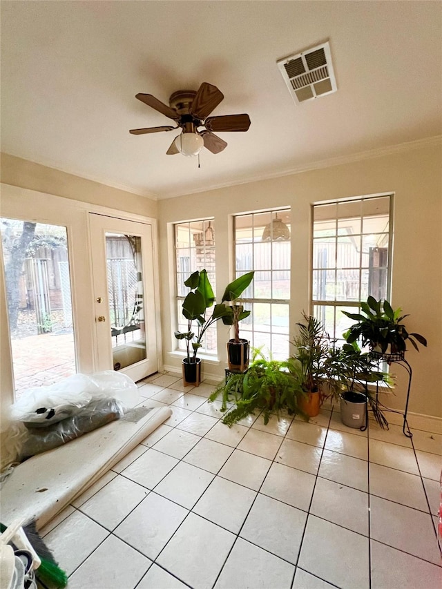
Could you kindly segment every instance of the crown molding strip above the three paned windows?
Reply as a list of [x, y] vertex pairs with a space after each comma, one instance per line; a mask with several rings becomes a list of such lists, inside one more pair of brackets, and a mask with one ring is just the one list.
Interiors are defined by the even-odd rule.
[[384, 157], [385, 155], [393, 155], [394, 153], [401, 153], [403, 151], [412, 151], [428, 146], [442, 145], [442, 135], [434, 135], [433, 137], [425, 137], [424, 139], [416, 139], [414, 141], [405, 142], [401, 144], [391, 145], [387, 147], [381, 147], [376, 149], [370, 149], [367, 151], [359, 151], [352, 153], [351, 155], [343, 155], [339, 157], [329, 157], [327, 160], [318, 160], [305, 164], [302, 166], [294, 166], [292, 168], [286, 168], [284, 171], [270, 173], [270, 174], [257, 174], [248, 176], [242, 180], [233, 180], [232, 182], [222, 182], [220, 184], [211, 184], [211, 186], [197, 189], [189, 192], [170, 193], [167, 196], [160, 196], [160, 200], [166, 200], [166, 198], [176, 198], [184, 195], [198, 194], [201, 192], [208, 192], [212, 190], [229, 188], [231, 186], [240, 186], [241, 184], [251, 184], [252, 182], [261, 182], [262, 180], [271, 180], [273, 178], [279, 178], [284, 176], [290, 176], [300, 174], [303, 172], [309, 172], [318, 170], [320, 168], [332, 168], [334, 166], [343, 166], [345, 164], [352, 164], [354, 162], [362, 162], [363, 160], [373, 160], [376, 157]]

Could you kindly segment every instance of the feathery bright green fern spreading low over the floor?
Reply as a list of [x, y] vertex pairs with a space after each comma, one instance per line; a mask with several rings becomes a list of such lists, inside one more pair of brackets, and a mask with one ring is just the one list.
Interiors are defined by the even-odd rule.
[[287, 409], [289, 414], [303, 414], [299, 400], [305, 393], [298, 378], [296, 362], [294, 358], [267, 360], [261, 349], [254, 349], [247, 372], [233, 373], [223, 380], [209, 401], [213, 402], [222, 395], [222, 412], [227, 411], [227, 403], [236, 404], [222, 419], [229, 427], [253, 414], [255, 409], [262, 410], [265, 424], [271, 414], [278, 414], [282, 409]]

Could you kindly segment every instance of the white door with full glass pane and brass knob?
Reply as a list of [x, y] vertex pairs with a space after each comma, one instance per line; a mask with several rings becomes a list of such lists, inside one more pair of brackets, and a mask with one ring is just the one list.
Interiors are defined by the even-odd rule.
[[152, 226], [89, 214], [99, 370], [158, 369]]

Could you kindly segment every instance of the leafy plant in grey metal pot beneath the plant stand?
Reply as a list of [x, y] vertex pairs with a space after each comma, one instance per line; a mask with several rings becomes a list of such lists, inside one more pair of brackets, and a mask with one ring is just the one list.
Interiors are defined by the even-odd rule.
[[369, 391], [369, 385], [383, 382], [392, 386], [392, 377], [380, 371], [376, 360], [369, 353], [361, 352], [356, 342], [344, 344], [342, 349], [329, 350], [329, 395], [340, 400], [340, 418], [344, 425], [361, 429], [365, 427], [367, 403], [374, 418], [384, 429], [388, 427], [377, 396]]

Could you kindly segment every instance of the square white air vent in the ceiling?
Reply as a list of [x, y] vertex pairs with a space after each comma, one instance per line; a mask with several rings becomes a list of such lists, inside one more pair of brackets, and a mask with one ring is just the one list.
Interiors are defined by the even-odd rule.
[[328, 41], [279, 59], [276, 63], [296, 102], [305, 102], [336, 92], [336, 78]]

